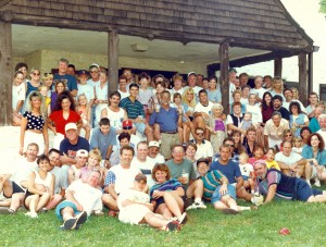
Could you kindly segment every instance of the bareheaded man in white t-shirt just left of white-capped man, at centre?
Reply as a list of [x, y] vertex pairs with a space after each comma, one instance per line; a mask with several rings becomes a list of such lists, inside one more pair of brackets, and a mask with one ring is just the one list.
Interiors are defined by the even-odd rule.
[[147, 176], [148, 188], [150, 189], [154, 185], [152, 178], [152, 170], [154, 168], [154, 162], [147, 158], [148, 145], [146, 141], [140, 141], [137, 145], [137, 156], [134, 157], [131, 161], [131, 166], [137, 168], [140, 172]]

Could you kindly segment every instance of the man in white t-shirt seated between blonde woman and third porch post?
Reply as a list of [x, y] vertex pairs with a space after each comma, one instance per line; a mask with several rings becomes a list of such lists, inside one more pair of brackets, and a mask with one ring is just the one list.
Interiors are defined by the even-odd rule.
[[193, 126], [195, 128], [201, 127], [205, 129], [205, 139], [210, 139], [210, 131], [205, 128], [210, 115], [212, 114], [213, 103], [209, 101], [208, 91], [201, 89], [199, 91], [199, 102], [196, 104], [193, 110]]

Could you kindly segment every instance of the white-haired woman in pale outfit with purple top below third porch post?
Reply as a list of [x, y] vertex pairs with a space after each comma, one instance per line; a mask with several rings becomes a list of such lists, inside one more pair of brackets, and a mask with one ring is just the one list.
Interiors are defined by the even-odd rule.
[[209, 119], [209, 125], [206, 128], [211, 133], [211, 143], [214, 149], [214, 153], [220, 153], [220, 147], [223, 144], [224, 138], [227, 136], [227, 127], [223, 119], [223, 106], [221, 103], [214, 103], [212, 107], [212, 115]]

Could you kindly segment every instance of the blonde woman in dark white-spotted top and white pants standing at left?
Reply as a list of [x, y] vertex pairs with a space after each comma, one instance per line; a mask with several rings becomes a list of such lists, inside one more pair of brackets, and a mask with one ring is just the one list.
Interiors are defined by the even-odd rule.
[[21, 156], [30, 141], [38, 145], [38, 155], [48, 153], [49, 135], [46, 120], [43, 98], [39, 91], [32, 91], [27, 99], [27, 111], [24, 112], [21, 123]]

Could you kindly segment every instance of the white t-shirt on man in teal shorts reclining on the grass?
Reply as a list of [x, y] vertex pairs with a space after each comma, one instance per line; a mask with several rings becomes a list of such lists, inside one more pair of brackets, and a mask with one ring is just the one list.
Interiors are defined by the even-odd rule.
[[75, 199], [80, 203], [87, 215], [90, 215], [93, 210], [103, 209], [102, 205], [102, 192], [98, 188], [91, 187], [87, 183], [83, 183], [82, 180], [74, 181], [66, 190], [74, 193]]

